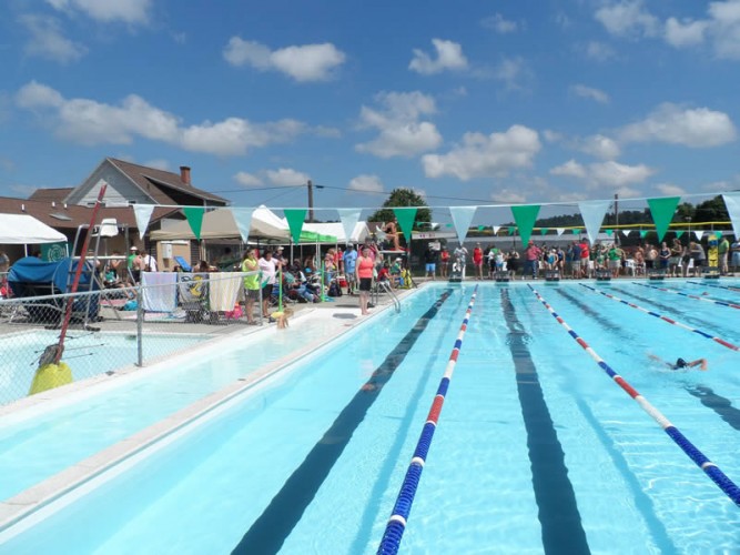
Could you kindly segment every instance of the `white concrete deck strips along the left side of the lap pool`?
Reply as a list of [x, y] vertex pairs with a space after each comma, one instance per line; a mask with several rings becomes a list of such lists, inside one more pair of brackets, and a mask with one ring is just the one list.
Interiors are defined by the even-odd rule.
[[[420, 284], [420, 286], [424, 286]], [[399, 300], [410, 294], [414, 290], [395, 291]], [[387, 311], [393, 310], [393, 299], [385, 294], [378, 297], [377, 306], [367, 317], [359, 315], [358, 297], [354, 295], [344, 295], [337, 297], [334, 302], [323, 302], [316, 304], [295, 304], [292, 307], [295, 314], [291, 319], [291, 327], [300, 327], [303, 322], [322, 319], [332, 322], [323, 334], [320, 334], [315, 341], [302, 345], [298, 349], [285, 354], [283, 357], [261, 366], [245, 377], [239, 379], [221, 390], [207, 394], [199, 401], [176, 411], [170, 416], [148, 426], [129, 437], [110, 445], [109, 447], [95, 453], [83, 461], [78, 462], [64, 471], [59, 472], [49, 478], [29, 487], [28, 490], [14, 495], [11, 498], [0, 502], [0, 543], [3, 536], [14, 535], [28, 526], [33, 525], [38, 519], [43, 518], [47, 513], [51, 514], [57, 508], [64, 505], [63, 497], [72, 492], [83, 493], [94, 487], [95, 482], [105, 481], [104, 474], [113, 467], [125, 467], [134, 464], [136, 460], [146, 456], [150, 448], [161, 447], [162, 445], [174, 441], [186, 428], [197, 425], [205, 415], [213, 415], [229, 406], [230, 401], [260, 386], [270, 376], [280, 372], [292, 362], [308, 356], [316, 352], [335, 337], [346, 333], [364, 322], [382, 316]], [[108, 320], [95, 323], [101, 331], [110, 329], [119, 331], [115, 322], [109, 323]], [[245, 326], [243, 324], [231, 325], [211, 325], [205, 323], [178, 323], [169, 327], [175, 327], [178, 333], [207, 333], [214, 336], [215, 342], [230, 341], [245, 335], [268, 333], [272, 324], [264, 323], [260, 326]], [[13, 332], [19, 331], [18, 325], [11, 325]], [[0, 327], [0, 333], [4, 330]], [[290, 331], [288, 331], [290, 333]], [[175, 359], [169, 357], [168, 364], [176, 364], [176, 359], [193, 356], [193, 353], [212, 350], [214, 342], [207, 341], [201, 343]], [[148, 369], [155, 371], [156, 364], [148, 365]], [[149, 372], [148, 372], [149, 373]], [[131, 379], [141, 379], [141, 370], [136, 366], [114, 372], [110, 375], [102, 374], [88, 380], [83, 380], [70, 385], [50, 390], [30, 397], [22, 398], [0, 407], [0, 418], [4, 423], [32, 418], [34, 415], [64, 406], [88, 396], [95, 395], [110, 387], [115, 387]], [[55, 503], [59, 502], [59, 503]], [[59, 505], [55, 507], [54, 505]], [[14, 526], [18, 525], [18, 526]]]

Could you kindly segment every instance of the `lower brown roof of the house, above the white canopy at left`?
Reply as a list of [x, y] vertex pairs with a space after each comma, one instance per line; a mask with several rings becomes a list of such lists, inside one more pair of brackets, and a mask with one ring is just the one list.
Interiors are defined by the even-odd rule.
[[[0, 213], [30, 214], [57, 230], [77, 230], [79, 225], [90, 223], [92, 206], [81, 206], [78, 204], [68, 204], [64, 206], [62, 202], [53, 202], [55, 205], [52, 205], [52, 202], [47, 200], [37, 201], [32, 199], [0, 196]], [[178, 209], [155, 208], [152, 213], [151, 223], [178, 212]], [[130, 206], [101, 206], [98, 218], [98, 223], [103, 218], [115, 218], [119, 225], [129, 225], [130, 229], [136, 229], [136, 218], [134, 216], [133, 209]]]

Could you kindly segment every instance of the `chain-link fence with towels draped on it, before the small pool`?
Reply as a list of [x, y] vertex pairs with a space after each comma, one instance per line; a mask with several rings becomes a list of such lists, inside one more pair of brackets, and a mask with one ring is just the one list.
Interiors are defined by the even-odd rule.
[[13, 296], [38, 290], [11, 284], [10, 297], [0, 300], [0, 405], [44, 389], [39, 370], [49, 362], [50, 346], [59, 343], [68, 303], [71, 319], [61, 360], [71, 375], [60, 377], [60, 385], [143, 366], [244, 329], [250, 305], [261, 324], [261, 291], [256, 300], [245, 300], [245, 275], [144, 273], [133, 287], [36, 296]]

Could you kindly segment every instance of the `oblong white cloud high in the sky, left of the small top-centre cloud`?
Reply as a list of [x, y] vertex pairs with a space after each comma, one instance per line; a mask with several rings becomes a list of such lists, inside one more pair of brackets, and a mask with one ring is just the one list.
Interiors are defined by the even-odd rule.
[[334, 44], [305, 44], [270, 50], [264, 44], [232, 37], [223, 50], [232, 65], [251, 65], [261, 71], [275, 70], [298, 82], [326, 81], [346, 59]]

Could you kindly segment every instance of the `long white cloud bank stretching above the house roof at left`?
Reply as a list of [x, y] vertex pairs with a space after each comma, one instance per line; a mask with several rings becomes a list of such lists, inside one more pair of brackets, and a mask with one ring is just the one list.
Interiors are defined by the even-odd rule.
[[181, 118], [129, 94], [120, 105], [89, 99], [64, 99], [58, 91], [32, 81], [16, 94], [21, 108], [39, 112], [58, 135], [82, 144], [128, 144], [144, 138], [194, 152], [227, 157], [249, 149], [288, 142], [310, 128], [295, 120], [252, 123], [241, 118], [204, 121], [183, 127]]

